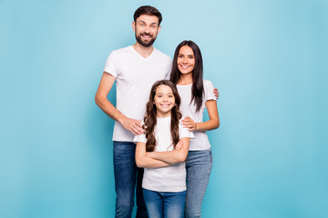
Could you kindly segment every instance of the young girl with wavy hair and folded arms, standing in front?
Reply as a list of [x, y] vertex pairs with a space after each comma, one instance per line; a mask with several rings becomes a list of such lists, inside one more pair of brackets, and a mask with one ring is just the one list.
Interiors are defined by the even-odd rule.
[[175, 84], [169, 80], [153, 84], [144, 118], [145, 134], [134, 140], [138, 143], [136, 163], [145, 168], [142, 188], [150, 218], [184, 216], [184, 161], [193, 134], [179, 124], [179, 105]]

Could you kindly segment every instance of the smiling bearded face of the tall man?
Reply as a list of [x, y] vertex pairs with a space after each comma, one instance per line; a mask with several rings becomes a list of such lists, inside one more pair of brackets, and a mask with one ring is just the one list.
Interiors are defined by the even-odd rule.
[[138, 44], [149, 47], [159, 34], [159, 18], [155, 15], [140, 15], [132, 27]]

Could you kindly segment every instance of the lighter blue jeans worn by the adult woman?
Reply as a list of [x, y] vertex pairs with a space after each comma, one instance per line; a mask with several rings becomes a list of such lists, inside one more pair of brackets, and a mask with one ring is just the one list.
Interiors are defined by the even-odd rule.
[[200, 217], [201, 203], [210, 179], [211, 150], [190, 151], [186, 160], [186, 217]]

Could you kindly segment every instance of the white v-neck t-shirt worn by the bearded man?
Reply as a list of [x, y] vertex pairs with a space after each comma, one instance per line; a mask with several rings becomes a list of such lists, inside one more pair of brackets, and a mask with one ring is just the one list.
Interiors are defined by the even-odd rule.
[[[146, 112], [151, 86], [158, 80], [169, 78], [169, 55], [154, 48], [144, 58], [130, 45], [111, 52], [104, 71], [116, 77], [116, 108], [128, 118], [142, 120]], [[113, 141], [133, 142], [134, 134], [115, 122]]]

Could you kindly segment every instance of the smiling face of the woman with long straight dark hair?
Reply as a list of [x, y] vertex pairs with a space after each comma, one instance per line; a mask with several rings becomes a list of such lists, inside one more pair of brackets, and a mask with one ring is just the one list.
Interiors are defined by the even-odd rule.
[[190, 74], [195, 68], [195, 55], [188, 45], [183, 45], [179, 49], [177, 59], [178, 69], [181, 74]]

